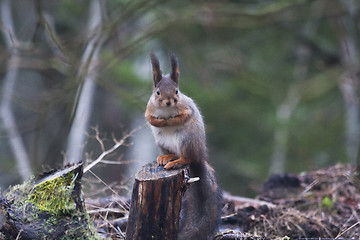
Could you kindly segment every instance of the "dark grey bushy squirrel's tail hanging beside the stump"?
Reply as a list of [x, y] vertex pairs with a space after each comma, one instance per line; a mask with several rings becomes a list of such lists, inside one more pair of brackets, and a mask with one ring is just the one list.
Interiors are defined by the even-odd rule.
[[208, 240], [220, 222], [221, 190], [207, 161], [191, 164], [190, 177], [200, 180], [190, 184], [185, 192], [178, 239]]

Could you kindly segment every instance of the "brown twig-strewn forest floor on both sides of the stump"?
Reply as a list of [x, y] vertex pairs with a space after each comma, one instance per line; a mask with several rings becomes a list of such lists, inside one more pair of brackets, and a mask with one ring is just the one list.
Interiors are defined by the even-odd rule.
[[[360, 183], [353, 181], [354, 170], [335, 165], [273, 175], [256, 199], [225, 193], [221, 233], [214, 239], [360, 239]], [[116, 208], [116, 201], [111, 205]], [[122, 239], [126, 218], [112, 214], [106, 221], [98, 213], [92, 218], [104, 235]]]

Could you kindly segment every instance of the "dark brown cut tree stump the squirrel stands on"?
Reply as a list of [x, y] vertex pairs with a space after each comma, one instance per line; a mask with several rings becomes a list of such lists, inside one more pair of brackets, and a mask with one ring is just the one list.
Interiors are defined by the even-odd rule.
[[167, 171], [156, 162], [144, 165], [135, 175], [126, 239], [177, 239], [188, 179], [187, 168]]

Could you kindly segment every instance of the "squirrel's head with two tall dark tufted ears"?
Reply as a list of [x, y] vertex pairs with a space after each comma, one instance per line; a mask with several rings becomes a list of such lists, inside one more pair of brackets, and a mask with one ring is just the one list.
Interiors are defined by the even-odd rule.
[[170, 55], [171, 73], [162, 75], [160, 70], [159, 59], [154, 53], [150, 54], [153, 69], [153, 96], [161, 107], [174, 107], [180, 99], [180, 91], [178, 88], [179, 64], [174, 54]]

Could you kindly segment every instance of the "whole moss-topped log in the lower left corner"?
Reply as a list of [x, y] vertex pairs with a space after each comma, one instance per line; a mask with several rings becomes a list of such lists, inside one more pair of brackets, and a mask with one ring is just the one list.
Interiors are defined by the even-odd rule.
[[84, 208], [82, 164], [0, 194], [0, 239], [100, 239]]

